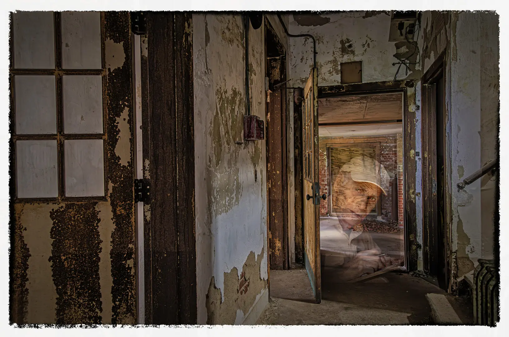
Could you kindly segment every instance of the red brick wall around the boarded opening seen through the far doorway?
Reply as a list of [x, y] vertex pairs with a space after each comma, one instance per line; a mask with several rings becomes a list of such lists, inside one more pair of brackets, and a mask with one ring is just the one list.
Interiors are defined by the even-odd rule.
[[[401, 136], [401, 135], [400, 135]], [[320, 137], [319, 144], [319, 163], [320, 163], [320, 186], [321, 194], [326, 193], [328, 195], [329, 186], [329, 168], [327, 163], [327, 150], [326, 145], [330, 143], [337, 143], [342, 145], [356, 144], [356, 143], [380, 143], [380, 164], [384, 166], [389, 174], [389, 188], [387, 196], [382, 196], [382, 219], [391, 219], [392, 217], [392, 179], [397, 176], [398, 179], [403, 178], [403, 165], [399, 164], [398, 161], [398, 137], [396, 135], [391, 136], [372, 136], [372, 137]], [[401, 137], [401, 143], [403, 144], [403, 138]], [[401, 145], [400, 148], [402, 149]], [[401, 152], [401, 161], [403, 161], [403, 151]], [[400, 174], [398, 172], [401, 172]], [[403, 189], [402, 182], [398, 185], [401, 191], [398, 192], [399, 204], [401, 203], [400, 212], [403, 211]], [[328, 196], [330, 197], [330, 196]], [[328, 202], [322, 202], [320, 204], [320, 216], [327, 216], [329, 213]], [[398, 215], [398, 219], [401, 221], [403, 218]], [[402, 222], [401, 222], [402, 223]]]

